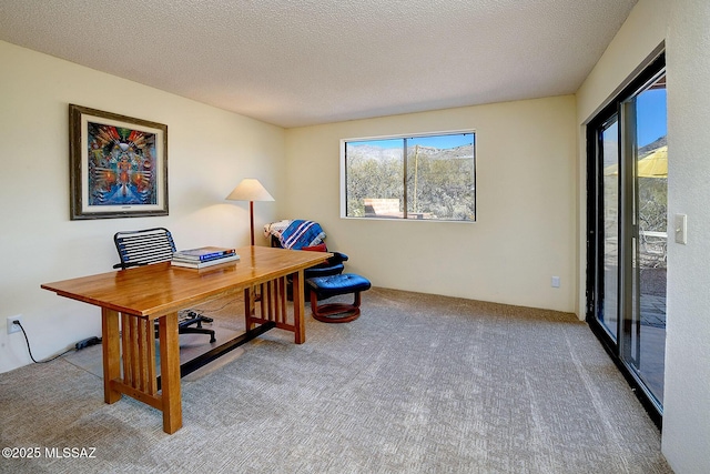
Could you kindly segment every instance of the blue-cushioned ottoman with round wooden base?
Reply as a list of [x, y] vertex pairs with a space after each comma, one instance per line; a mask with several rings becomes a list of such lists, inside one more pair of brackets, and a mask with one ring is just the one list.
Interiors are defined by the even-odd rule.
[[[306, 280], [311, 290], [311, 311], [313, 317], [324, 323], [348, 323], [359, 316], [359, 294], [371, 288], [369, 280], [354, 273], [316, 276]], [[353, 304], [327, 303], [318, 306], [318, 300], [341, 294], [355, 294]]]

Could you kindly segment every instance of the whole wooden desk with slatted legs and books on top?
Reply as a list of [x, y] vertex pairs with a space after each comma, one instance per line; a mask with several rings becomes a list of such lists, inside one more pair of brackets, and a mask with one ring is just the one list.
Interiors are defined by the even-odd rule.
[[[101, 307], [104, 401], [115, 403], [121, 394], [126, 394], [161, 410], [163, 431], [172, 434], [182, 427], [179, 310], [244, 292], [245, 336], [211, 351], [215, 354], [210, 360], [219, 355], [220, 349], [222, 352], [234, 349], [274, 326], [292, 331], [296, 344], [305, 342], [303, 270], [322, 263], [331, 254], [266, 246], [245, 246], [237, 249], [237, 253], [241, 256], [237, 262], [203, 270], [165, 262], [45, 283], [41, 288]], [[293, 280], [293, 315], [287, 314], [287, 276]], [[260, 307], [255, 307], [252, 297], [254, 288], [261, 291]], [[160, 379], [155, 366], [155, 320]]]

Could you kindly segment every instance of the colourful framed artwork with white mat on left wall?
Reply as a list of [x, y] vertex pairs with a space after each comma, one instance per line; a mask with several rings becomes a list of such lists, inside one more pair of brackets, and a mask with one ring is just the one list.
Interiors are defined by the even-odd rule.
[[168, 125], [69, 105], [71, 220], [168, 215]]

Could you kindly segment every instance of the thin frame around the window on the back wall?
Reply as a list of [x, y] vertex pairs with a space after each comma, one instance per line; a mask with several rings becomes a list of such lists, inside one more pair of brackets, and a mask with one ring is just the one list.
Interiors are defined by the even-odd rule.
[[[456, 135], [456, 134], [470, 134], [473, 137], [473, 193], [474, 193], [474, 219], [471, 220], [454, 220], [454, 219], [407, 219], [405, 216], [392, 216], [392, 215], [383, 215], [383, 216], [356, 216], [356, 215], [347, 215], [347, 153], [346, 147], [347, 143], [352, 142], [365, 142], [365, 141], [379, 141], [379, 140], [405, 140], [405, 139], [418, 139], [418, 138], [430, 138], [430, 137], [440, 137], [440, 135]], [[438, 132], [419, 132], [419, 133], [400, 133], [400, 134], [392, 134], [392, 135], [372, 135], [372, 137], [354, 137], [341, 139], [339, 142], [339, 152], [341, 152], [341, 219], [353, 219], [353, 220], [374, 220], [374, 221], [397, 221], [397, 222], [438, 222], [438, 223], [465, 223], [473, 224], [477, 221], [477, 194], [476, 194], [476, 182], [477, 182], [477, 151], [476, 151], [476, 139], [477, 132], [475, 129], [460, 129], [460, 130], [446, 130]], [[405, 175], [406, 181], [406, 160], [403, 160], [402, 170]], [[403, 192], [404, 199], [404, 209], [407, 206], [407, 190], [406, 185]], [[406, 215], [406, 213], [405, 213]]]

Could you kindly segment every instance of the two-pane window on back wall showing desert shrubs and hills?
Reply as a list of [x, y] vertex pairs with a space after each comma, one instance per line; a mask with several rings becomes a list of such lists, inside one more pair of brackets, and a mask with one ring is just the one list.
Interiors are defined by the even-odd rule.
[[476, 220], [473, 131], [343, 140], [347, 218]]

